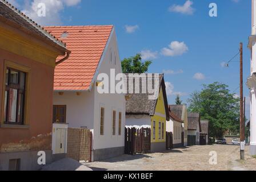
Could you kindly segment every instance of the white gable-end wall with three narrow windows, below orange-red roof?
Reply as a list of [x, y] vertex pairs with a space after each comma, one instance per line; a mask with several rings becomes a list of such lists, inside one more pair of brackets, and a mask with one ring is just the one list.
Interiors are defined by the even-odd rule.
[[[110, 53], [112, 52], [112, 61]], [[116, 57], [116, 64], [115, 64]], [[98, 73], [106, 73], [110, 77], [110, 69], [115, 69], [115, 74], [121, 73], [121, 61], [119, 59], [117, 38], [113, 32], [105, 56], [99, 67]], [[102, 80], [98, 80], [102, 81]], [[110, 84], [110, 82], [109, 82]], [[94, 84], [94, 143], [93, 148], [112, 148], [125, 146], [125, 95], [124, 94], [99, 94]], [[100, 135], [100, 107], [105, 107], [104, 135]], [[112, 113], [116, 110], [115, 135], [112, 134]], [[118, 135], [118, 113], [122, 112], [121, 135]]]

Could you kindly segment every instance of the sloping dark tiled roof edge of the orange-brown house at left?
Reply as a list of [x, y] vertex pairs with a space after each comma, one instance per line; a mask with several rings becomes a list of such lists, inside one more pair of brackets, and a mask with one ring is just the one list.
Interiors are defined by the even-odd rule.
[[55, 38], [55, 36], [53, 36], [52, 34], [50, 34], [49, 32], [47, 32], [46, 30], [44, 30], [43, 27], [41, 27], [39, 24], [37, 24], [36, 22], [34, 22], [32, 19], [29, 18], [29, 16], [27, 16], [26, 14], [22, 13], [21, 10], [18, 10], [17, 7], [14, 7], [13, 5], [11, 5], [11, 3], [9, 3], [6, 0], [0, 0], [4, 5], [6, 5], [7, 7], [9, 7], [11, 10], [13, 10], [15, 13], [17, 13], [19, 16], [21, 16], [23, 19], [25, 19], [28, 23], [30, 23], [34, 28], [37, 28], [37, 30], [41, 31], [45, 36], [47, 36], [47, 38], [49, 38], [50, 40], [52, 40], [53, 42], [59, 44], [59, 46], [65, 47], [66, 48], [66, 44], [62, 42], [62, 40], [59, 40], [57, 38]]

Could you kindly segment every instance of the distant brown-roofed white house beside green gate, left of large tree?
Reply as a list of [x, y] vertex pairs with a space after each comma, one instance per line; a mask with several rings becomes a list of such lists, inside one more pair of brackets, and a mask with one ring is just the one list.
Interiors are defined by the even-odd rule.
[[199, 145], [200, 144], [200, 114], [199, 113], [187, 113], [187, 145]]

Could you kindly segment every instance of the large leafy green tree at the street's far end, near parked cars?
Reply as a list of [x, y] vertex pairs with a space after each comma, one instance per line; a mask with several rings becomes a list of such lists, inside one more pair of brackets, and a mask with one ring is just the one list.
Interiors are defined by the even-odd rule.
[[227, 85], [219, 82], [203, 85], [201, 92], [192, 93], [188, 102], [189, 111], [209, 120], [210, 137], [239, 131], [239, 98], [230, 93]]

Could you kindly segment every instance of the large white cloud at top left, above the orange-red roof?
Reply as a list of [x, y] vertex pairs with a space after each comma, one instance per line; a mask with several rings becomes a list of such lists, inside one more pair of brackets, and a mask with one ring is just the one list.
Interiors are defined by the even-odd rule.
[[[75, 6], [80, 2], [81, 0], [32, 0], [25, 4], [22, 12], [42, 26], [59, 25], [61, 24], [61, 11], [66, 6]], [[46, 7], [45, 16], [38, 16], [38, 10], [41, 10], [41, 7], [38, 7], [40, 3]]]

